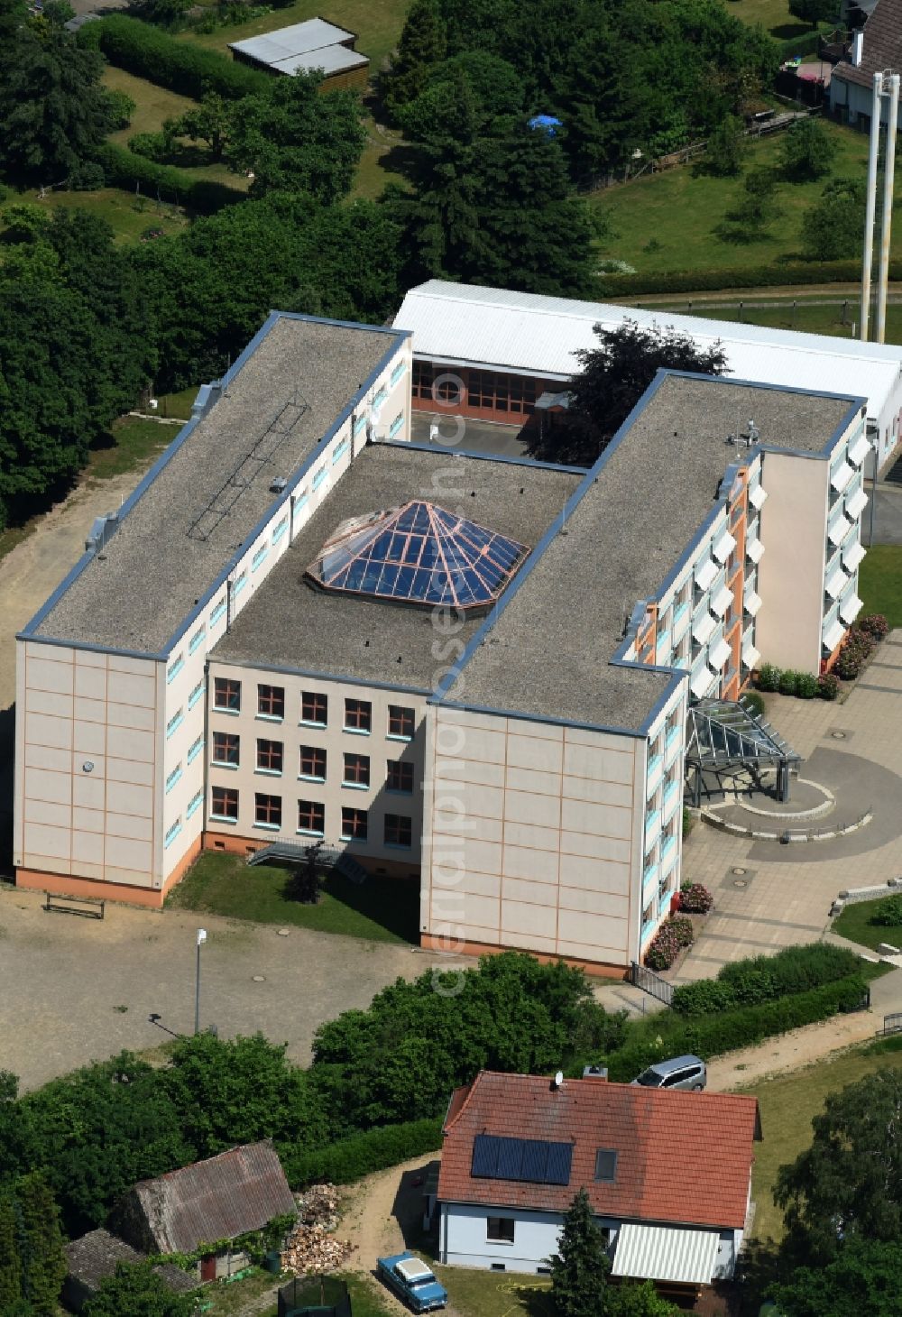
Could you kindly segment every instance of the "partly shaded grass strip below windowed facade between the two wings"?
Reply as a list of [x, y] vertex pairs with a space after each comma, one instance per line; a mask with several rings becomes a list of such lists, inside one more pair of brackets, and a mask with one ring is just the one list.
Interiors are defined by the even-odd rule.
[[248, 868], [240, 856], [205, 851], [175, 888], [167, 905], [288, 923], [316, 932], [344, 932], [371, 942], [417, 942], [420, 888], [402, 878], [369, 877], [349, 882], [337, 873], [327, 878], [317, 905], [284, 896], [290, 873], [275, 865]]

